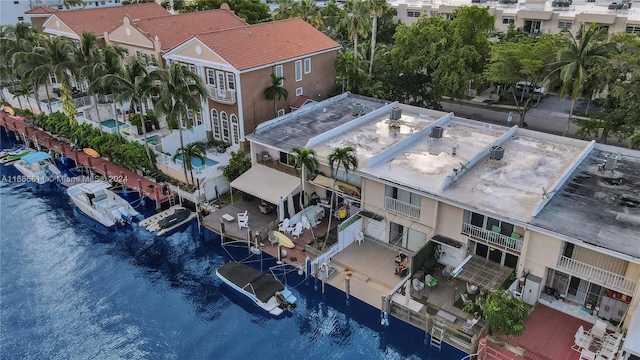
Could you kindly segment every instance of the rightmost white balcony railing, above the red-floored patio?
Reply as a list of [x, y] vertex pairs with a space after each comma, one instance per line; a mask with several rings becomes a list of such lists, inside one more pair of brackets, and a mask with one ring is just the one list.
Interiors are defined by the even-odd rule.
[[574, 274], [585, 280], [596, 280], [604, 284], [605, 287], [624, 292], [627, 295], [633, 295], [636, 289], [636, 282], [622, 275], [612, 273], [604, 269], [600, 269], [593, 265], [561, 256], [558, 259], [558, 269], [567, 273]]

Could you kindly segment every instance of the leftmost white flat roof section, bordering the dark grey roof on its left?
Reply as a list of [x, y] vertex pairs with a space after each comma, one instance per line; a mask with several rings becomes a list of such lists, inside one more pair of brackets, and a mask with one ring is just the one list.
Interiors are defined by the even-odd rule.
[[402, 117], [396, 121], [397, 128], [391, 128], [389, 113], [369, 120], [345, 132], [336, 134], [326, 141], [313, 146], [318, 159], [327, 159], [338, 147], [352, 146], [356, 149], [359, 168], [367, 166], [369, 160], [383, 150], [407, 139], [411, 134], [433, 124], [447, 113], [416, 107], [398, 105]]

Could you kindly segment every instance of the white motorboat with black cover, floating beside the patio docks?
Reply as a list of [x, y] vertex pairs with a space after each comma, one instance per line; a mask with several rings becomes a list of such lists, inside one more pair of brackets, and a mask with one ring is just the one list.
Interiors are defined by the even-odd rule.
[[278, 316], [296, 307], [296, 297], [273, 275], [236, 262], [222, 265], [216, 275], [271, 315]]

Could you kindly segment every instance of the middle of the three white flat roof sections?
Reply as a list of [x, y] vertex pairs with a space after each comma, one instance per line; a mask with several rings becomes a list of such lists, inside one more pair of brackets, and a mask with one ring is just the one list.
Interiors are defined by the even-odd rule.
[[466, 164], [509, 130], [504, 126], [456, 117], [441, 126], [444, 129], [441, 139], [425, 135], [411, 146], [392, 154], [386, 161], [362, 171], [397, 184], [438, 194], [453, 169], [460, 169], [460, 163]]

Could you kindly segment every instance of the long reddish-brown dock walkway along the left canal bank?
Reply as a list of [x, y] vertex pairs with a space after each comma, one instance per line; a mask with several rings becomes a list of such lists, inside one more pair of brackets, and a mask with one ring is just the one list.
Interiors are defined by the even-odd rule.
[[168, 202], [172, 196], [176, 195], [174, 193], [163, 194], [162, 185], [134, 171], [114, 164], [110, 160], [105, 158], [92, 158], [84, 152], [74, 151], [71, 149], [71, 144], [59, 140], [45, 131], [34, 128], [26, 124], [23, 120], [19, 120], [9, 114], [0, 114], [0, 126], [3, 126], [7, 131], [14, 131], [21, 134], [25, 139], [33, 141], [38, 147], [46, 147], [62, 156], [73, 159], [76, 162], [76, 166], [86, 166], [111, 183], [118, 183], [138, 191], [140, 195], [147, 196], [151, 200], [154, 200], [157, 208], [160, 208], [165, 202]]

